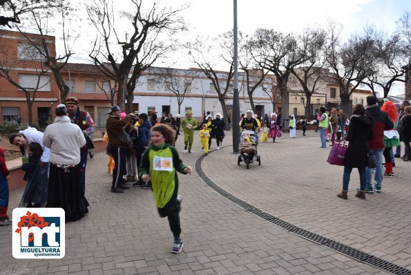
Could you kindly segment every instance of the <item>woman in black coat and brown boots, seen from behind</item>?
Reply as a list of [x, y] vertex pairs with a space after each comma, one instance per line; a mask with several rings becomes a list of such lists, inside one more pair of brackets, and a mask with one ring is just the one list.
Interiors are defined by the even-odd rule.
[[343, 191], [337, 195], [338, 198], [345, 200], [347, 199], [351, 171], [354, 167], [359, 169], [360, 174], [360, 189], [355, 196], [365, 199], [365, 186], [367, 184], [367, 174], [365, 172], [368, 151], [367, 141], [372, 140], [374, 137], [372, 132], [374, 121], [370, 117], [365, 116], [363, 104], [355, 104], [352, 108], [352, 113], [347, 138], [345, 138], [345, 140], [350, 143], [348, 144], [344, 160]]

